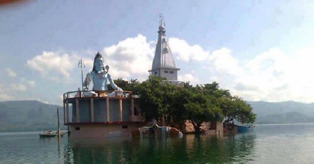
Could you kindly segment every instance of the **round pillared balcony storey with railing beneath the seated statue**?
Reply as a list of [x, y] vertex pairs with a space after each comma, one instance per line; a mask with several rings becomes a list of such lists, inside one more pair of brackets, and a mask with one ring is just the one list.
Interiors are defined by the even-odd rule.
[[139, 96], [128, 91], [73, 91], [63, 94], [64, 124], [144, 122]]

